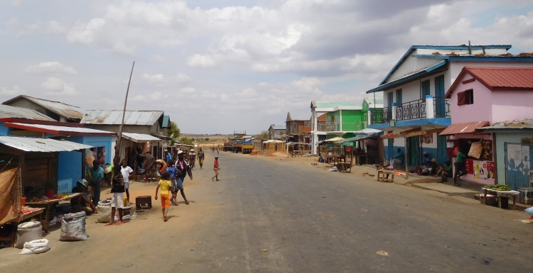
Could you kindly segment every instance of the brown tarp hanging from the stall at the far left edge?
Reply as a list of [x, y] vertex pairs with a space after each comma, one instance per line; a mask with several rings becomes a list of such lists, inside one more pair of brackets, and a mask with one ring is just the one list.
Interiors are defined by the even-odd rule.
[[0, 225], [21, 216], [21, 169], [0, 172]]

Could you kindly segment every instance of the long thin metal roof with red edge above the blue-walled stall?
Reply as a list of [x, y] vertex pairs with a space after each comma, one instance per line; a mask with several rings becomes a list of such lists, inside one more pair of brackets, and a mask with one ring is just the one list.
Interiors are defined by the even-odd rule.
[[80, 127], [67, 127], [67, 126], [51, 126], [42, 124], [28, 124], [28, 123], [11, 123], [6, 122], [4, 126], [11, 128], [18, 128], [23, 130], [33, 130], [41, 133], [53, 133], [55, 135], [117, 135], [114, 132], [108, 132], [107, 130], [95, 130], [90, 128]]

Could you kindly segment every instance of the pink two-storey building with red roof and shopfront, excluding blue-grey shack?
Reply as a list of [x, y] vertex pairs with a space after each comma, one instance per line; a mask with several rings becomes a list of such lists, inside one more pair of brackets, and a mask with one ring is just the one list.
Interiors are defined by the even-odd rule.
[[[494, 123], [533, 117], [533, 67], [464, 67], [446, 92], [451, 99], [448, 156], [459, 150], [468, 155], [470, 145], [481, 141], [481, 157], [465, 160], [467, 182], [495, 184], [495, 143], [492, 133], [475, 133], [476, 128]], [[455, 158], [454, 158], [455, 159]], [[454, 169], [455, 172], [455, 169]]]

